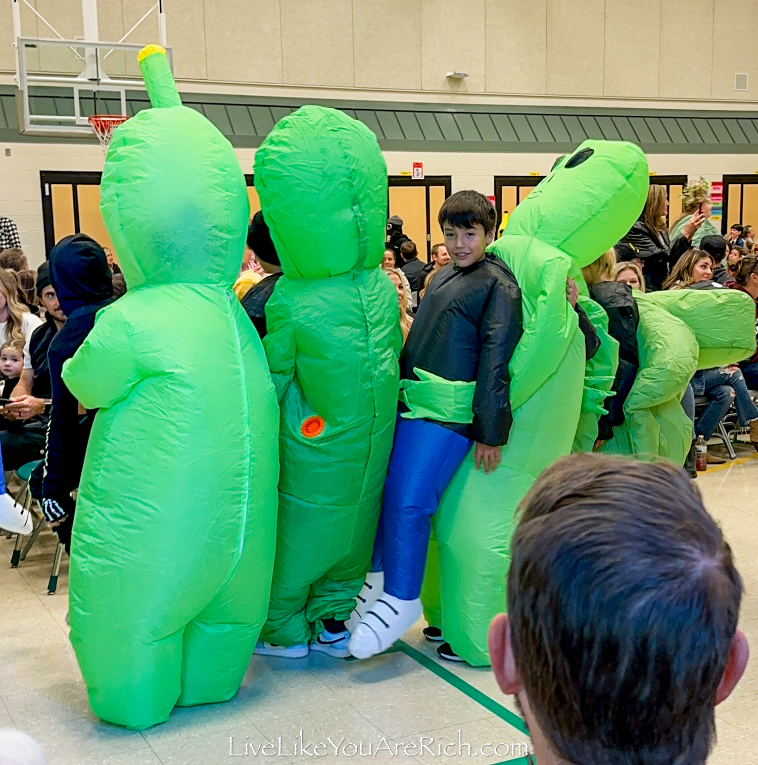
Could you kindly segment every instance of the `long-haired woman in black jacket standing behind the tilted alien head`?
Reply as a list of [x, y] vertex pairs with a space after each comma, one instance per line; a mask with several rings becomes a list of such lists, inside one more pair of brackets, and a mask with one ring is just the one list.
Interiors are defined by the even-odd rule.
[[645, 273], [654, 290], [661, 289], [671, 266], [690, 249], [693, 236], [705, 220], [705, 213], [696, 212], [686, 225], [681, 226], [677, 236], [672, 234], [669, 238], [666, 229], [667, 215], [666, 187], [651, 186], [639, 220], [622, 239], [623, 243], [634, 245], [642, 252], [647, 252]]

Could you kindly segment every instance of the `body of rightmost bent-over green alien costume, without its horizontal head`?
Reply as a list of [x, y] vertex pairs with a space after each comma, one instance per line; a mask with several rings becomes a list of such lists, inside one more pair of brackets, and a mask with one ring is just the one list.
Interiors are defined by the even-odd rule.
[[681, 396], [698, 365], [698, 341], [683, 321], [637, 295], [639, 370], [624, 404], [624, 422], [603, 444], [605, 454], [684, 464], [692, 422]]

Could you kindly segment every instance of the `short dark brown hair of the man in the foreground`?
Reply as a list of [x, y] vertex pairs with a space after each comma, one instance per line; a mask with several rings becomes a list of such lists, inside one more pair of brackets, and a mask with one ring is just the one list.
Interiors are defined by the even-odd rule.
[[742, 584], [691, 480], [575, 454], [520, 512], [511, 644], [554, 750], [571, 763], [704, 763]]

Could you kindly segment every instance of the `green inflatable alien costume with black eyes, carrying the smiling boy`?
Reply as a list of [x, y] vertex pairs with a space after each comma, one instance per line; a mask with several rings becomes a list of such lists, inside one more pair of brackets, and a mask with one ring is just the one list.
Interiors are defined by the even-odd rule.
[[[583, 149], [593, 154], [567, 168]], [[427, 618], [438, 620], [445, 639], [469, 664], [489, 663], [488, 624], [505, 610], [515, 508], [541, 471], [570, 453], [577, 434], [586, 360], [566, 279], [629, 231], [648, 187], [639, 147], [586, 141], [519, 204], [504, 236], [490, 248], [521, 288], [524, 334], [510, 364], [513, 426], [494, 473], [475, 470], [470, 453], [446, 490], [433, 517], [439, 571], [432, 556], [423, 598], [430, 604]], [[429, 598], [437, 588], [441, 624]]]

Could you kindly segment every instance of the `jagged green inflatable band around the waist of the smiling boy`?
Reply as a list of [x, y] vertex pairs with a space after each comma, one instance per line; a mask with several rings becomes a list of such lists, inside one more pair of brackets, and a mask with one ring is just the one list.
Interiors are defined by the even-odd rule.
[[417, 366], [413, 367], [413, 372], [419, 379], [400, 380], [400, 401], [410, 410], [400, 416], [410, 420], [472, 422], [475, 382], [446, 380]]

